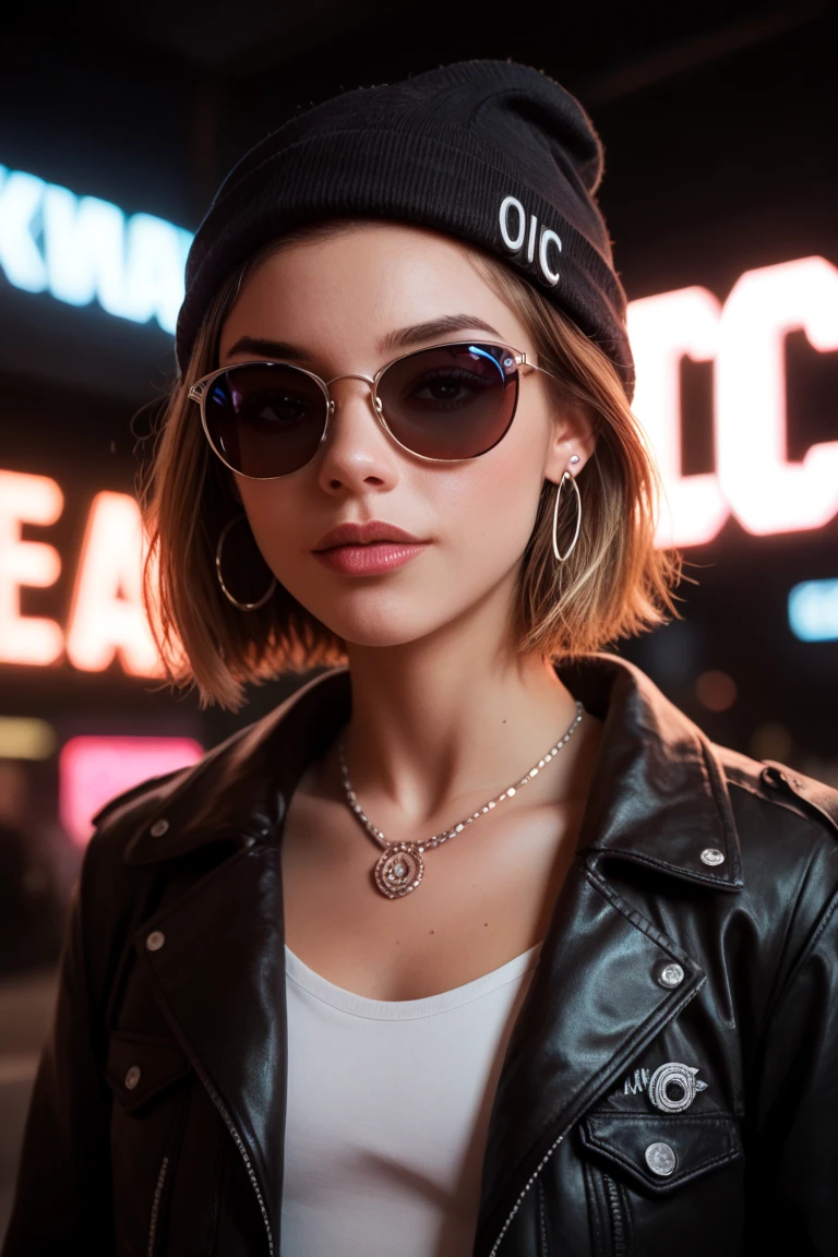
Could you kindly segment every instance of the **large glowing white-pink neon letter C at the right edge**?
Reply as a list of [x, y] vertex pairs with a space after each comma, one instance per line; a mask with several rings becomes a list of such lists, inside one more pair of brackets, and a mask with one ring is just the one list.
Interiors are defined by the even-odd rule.
[[838, 349], [838, 270], [825, 258], [745, 272], [721, 314], [716, 469], [758, 535], [820, 528], [838, 512], [838, 441], [786, 458], [784, 341], [797, 328], [819, 352]]

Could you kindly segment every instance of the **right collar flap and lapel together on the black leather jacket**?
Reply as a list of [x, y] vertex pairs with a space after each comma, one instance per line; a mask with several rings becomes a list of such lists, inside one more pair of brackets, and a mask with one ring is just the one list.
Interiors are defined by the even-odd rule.
[[[597, 656], [559, 676], [604, 722], [577, 843], [491, 1112], [475, 1253], [491, 1252], [539, 1163], [701, 989], [701, 965], [609, 884], [609, 862], [739, 892], [739, 840], [710, 742], [650, 679]], [[709, 848], [721, 864], [702, 861]], [[657, 977], [677, 960], [675, 989]]]

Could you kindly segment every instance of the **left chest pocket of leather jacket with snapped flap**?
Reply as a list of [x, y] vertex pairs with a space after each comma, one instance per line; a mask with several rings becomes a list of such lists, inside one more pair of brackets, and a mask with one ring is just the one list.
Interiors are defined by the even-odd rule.
[[191, 1066], [168, 1038], [116, 1029], [106, 1080], [113, 1094], [111, 1161], [118, 1254], [161, 1257], [186, 1123]]

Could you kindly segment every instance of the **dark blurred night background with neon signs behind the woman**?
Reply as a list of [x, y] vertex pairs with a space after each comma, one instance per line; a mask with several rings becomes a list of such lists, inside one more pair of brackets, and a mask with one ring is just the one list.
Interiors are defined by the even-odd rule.
[[838, 145], [827, 4], [40, 5], [0, 43], [0, 1237], [90, 815], [275, 706], [161, 689], [134, 476], [191, 233], [309, 103], [513, 58], [574, 92], [631, 300], [682, 622], [621, 642], [716, 742], [838, 784]]

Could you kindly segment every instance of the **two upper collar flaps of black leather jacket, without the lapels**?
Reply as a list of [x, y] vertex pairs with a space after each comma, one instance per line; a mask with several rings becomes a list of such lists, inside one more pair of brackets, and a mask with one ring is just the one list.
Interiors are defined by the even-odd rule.
[[[740, 890], [727, 787], [699, 727], [641, 669], [616, 655], [590, 654], [555, 670], [573, 696], [604, 722], [579, 854], [598, 851], [691, 882]], [[330, 669], [193, 768], [165, 777], [126, 846], [126, 862], [180, 856], [225, 831], [265, 837], [281, 825], [310, 759], [349, 719], [351, 700], [348, 669]], [[148, 792], [144, 799], [152, 803]], [[108, 812], [109, 806], [94, 820]], [[156, 835], [153, 822], [163, 816], [167, 831]], [[725, 861], [702, 864], [706, 847], [721, 850]]]

